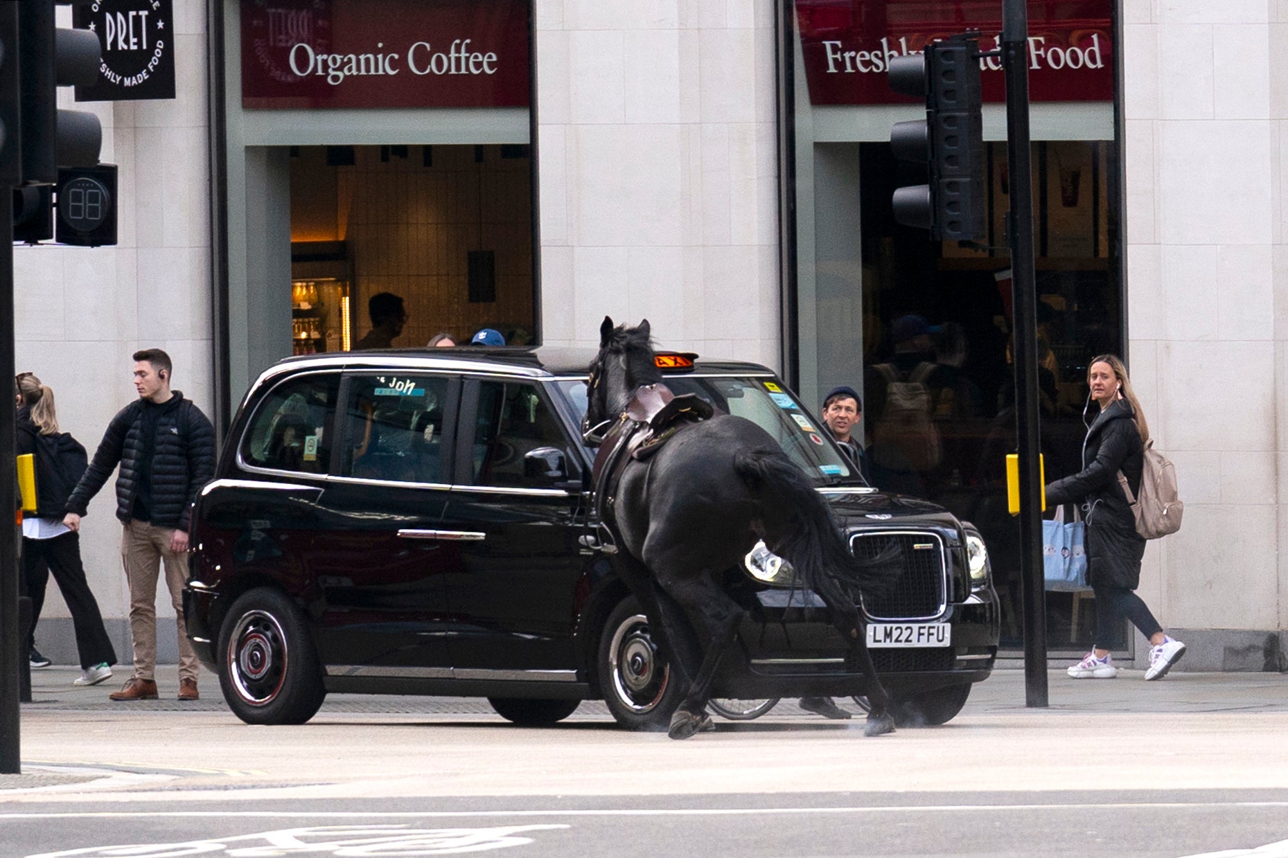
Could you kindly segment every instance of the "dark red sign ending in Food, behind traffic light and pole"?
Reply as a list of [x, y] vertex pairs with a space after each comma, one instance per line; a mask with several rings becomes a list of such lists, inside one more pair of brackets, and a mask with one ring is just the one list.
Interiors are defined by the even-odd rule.
[[[1028, 0], [1032, 100], [1113, 100], [1113, 1]], [[796, 0], [810, 103], [916, 100], [890, 89], [890, 61], [967, 30], [980, 31], [980, 52], [994, 50], [1001, 13], [998, 0]], [[1005, 102], [1001, 57], [979, 64], [984, 100]]]

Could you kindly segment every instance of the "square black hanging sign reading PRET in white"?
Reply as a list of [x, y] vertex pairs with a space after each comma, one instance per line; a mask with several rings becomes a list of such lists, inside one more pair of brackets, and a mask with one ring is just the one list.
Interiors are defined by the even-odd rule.
[[72, 23], [97, 33], [103, 53], [98, 82], [77, 86], [77, 102], [174, 98], [171, 0], [81, 0]]

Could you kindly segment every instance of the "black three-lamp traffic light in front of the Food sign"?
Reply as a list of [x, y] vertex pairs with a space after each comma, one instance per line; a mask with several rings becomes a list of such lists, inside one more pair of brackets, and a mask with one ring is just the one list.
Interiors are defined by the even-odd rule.
[[926, 99], [926, 119], [895, 122], [890, 148], [929, 167], [927, 184], [896, 188], [894, 219], [935, 241], [984, 236], [984, 122], [979, 36], [951, 36], [890, 61], [890, 86]]

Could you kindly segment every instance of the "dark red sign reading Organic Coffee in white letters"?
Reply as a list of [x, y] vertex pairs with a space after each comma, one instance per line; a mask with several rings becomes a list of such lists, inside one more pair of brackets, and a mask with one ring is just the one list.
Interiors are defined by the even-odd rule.
[[527, 107], [529, 0], [242, 0], [242, 106]]

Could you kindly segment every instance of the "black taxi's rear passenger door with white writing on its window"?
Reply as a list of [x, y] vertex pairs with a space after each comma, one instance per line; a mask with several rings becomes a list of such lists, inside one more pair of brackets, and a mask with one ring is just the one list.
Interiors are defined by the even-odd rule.
[[451, 553], [437, 539], [460, 379], [345, 374], [339, 464], [319, 508], [319, 649], [340, 676], [447, 679]]

